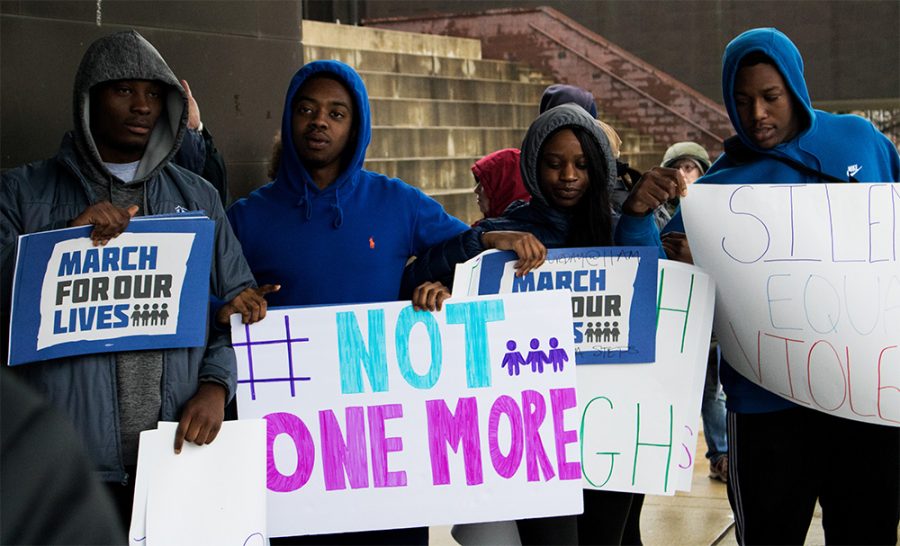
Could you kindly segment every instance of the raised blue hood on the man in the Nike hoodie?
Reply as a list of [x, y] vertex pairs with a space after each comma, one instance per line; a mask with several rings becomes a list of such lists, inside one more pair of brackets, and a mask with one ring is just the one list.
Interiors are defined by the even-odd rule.
[[765, 150], [756, 146], [744, 132], [734, 100], [734, 81], [737, 78], [738, 66], [741, 59], [754, 52], [763, 53], [772, 59], [781, 77], [784, 78], [794, 98], [795, 108], [799, 108], [796, 113], [802, 120], [801, 133], [815, 126], [816, 115], [803, 77], [803, 58], [794, 42], [775, 28], [755, 28], [738, 35], [725, 48], [722, 57], [722, 99], [741, 142], [753, 150], [764, 152]]

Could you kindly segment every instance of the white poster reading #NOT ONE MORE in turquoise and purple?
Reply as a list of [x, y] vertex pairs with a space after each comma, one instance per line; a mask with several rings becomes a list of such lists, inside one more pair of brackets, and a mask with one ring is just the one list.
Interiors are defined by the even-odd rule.
[[271, 536], [580, 513], [570, 308], [550, 291], [234, 316]]

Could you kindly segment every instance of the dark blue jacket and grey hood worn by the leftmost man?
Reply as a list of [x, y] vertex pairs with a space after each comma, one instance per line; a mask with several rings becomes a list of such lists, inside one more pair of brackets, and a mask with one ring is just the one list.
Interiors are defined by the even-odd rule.
[[[97, 43], [95, 43], [96, 45]], [[142, 159], [137, 183], [144, 185], [144, 214], [202, 210], [215, 221], [210, 293], [228, 301], [253, 284], [253, 276], [225, 218], [216, 190], [199, 176], [171, 163], [187, 119], [186, 99], [174, 74], [155, 49], [136, 33], [119, 33], [85, 55], [96, 55], [93, 75], [109, 79], [154, 79], [170, 86], [165, 121], [157, 122]], [[125, 62], [101, 62], [110, 56], [140, 59], [139, 68]], [[105, 71], [113, 70], [114, 73]], [[131, 70], [131, 71], [129, 71]], [[141, 70], [149, 72], [142, 72]], [[124, 72], [123, 72], [124, 71]], [[85, 106], [90, 87], [83, 72], [76, 80], [76, 130], [63, 139], [56, 157], [3, 173], [0, 182], [0, 310], [3, 333], [9, 328], [9, 295], [19, 235], [58, 229], [78, 216], [93, 199], [92, 177], [112, 177], [96, 155]], [[83, 99], [83, 100], [82, 100]], [[181, 115], [184, 112], [184, 115]], [[162, 119], [162, 118], [161, 118]], [[164, 134], [163, 134], [164, 133]], [[122, 184], [122, 181], [113, 181]], [[15, 335], [15, 332], [12, 333]], [[4, 353], [7, 350], [6, 344]], [[227, 331], [209, 328], [205, 347], [162, 351], [160, 418], [177, 421], [200, 381], [226, 386], [234, 396], [237, 365]], [[4, 362], [6, 355], [3, 355]], [[115, 353], [93, 354], [17, 366], [34, 388], [59, 407], [78, 430], [105, 481], [127, 478], [120, 446]]]

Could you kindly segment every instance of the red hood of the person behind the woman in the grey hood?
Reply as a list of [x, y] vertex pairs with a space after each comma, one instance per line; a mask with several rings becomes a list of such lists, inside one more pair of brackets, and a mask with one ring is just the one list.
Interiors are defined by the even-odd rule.
[[472, 174], [481, 183], [488, 198], [486, 218], [502, 215], [513, 201], [531, 199], [519, 174], [519, 155], [517, 148], [505, 148], [482, 157], [472, 165]]

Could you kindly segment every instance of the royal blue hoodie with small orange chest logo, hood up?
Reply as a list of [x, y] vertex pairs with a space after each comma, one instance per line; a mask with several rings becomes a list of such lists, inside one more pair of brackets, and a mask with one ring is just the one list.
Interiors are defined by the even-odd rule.
[[[303, 82], [323, 72], [350, 92], [358, 125], [352, 159], [320, 190], [294, 147], [291, 106]], [[371, 136], [369, 97], [353, 68], [315, 61], [297, 71], [284, 101], [278, 175], [228, 210], [256, 281], [281, 285], [270, 305], [396, 300], [410, 256], [468, 228], [417, 188], [364, 170]]]

